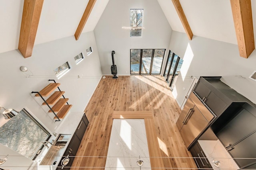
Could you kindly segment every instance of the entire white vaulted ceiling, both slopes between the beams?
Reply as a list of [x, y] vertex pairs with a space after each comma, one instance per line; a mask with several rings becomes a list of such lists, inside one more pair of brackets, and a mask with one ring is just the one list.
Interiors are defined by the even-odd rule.
[[[88, 1], [44, 0], [35, 45], [74, 35]], [[94, 30], [108, 1], [96, 1], [82, 32]], [[23, 3], [24, 0], [0, 0], [0, 53], [18, 48]], [[158, 0], [158, 3], [172, 29], [185, 32], [172, 0]], [[194, 35], [237, 44], [230, 0], [180, 0], [180, 4]], [[254, 0], [252, 16], [255, 28]]]

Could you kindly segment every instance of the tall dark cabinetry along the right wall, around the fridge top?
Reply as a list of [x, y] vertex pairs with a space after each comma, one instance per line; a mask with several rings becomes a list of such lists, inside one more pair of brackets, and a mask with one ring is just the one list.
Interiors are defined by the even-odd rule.
[[[221, 82], [220, 78], [200, 77], [193, 92], [217, 115], [210, 128], [238, 166], [255, 168], [256, 159], [252, 158], [256, 158], [256, 105]], [[195, 147], [191, 153], [195, 152]]]

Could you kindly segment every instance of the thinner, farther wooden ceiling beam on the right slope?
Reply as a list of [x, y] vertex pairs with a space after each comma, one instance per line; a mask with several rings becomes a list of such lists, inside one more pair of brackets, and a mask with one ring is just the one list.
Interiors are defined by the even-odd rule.
[[191, 31], [191, 28], [188, 24], [188, 20], [184, 14], [184, 11], [182, 9], [182, 6], [180, 4], [180, 0], [172, 0], [172, 3], [178, 13], [178, 16], [180, 17], [180, 21], [186, 31], [186, 34], [188, 35], [188, 39], [192, 40], [192, 37], [193, 37], [193, 33]]

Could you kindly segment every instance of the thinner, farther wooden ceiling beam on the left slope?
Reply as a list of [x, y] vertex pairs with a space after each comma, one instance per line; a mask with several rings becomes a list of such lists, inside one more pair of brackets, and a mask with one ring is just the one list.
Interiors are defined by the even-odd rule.
[[92, 12], [92, 8], [93, 8], [95, 2], [96, 2], [96, 0], [89, 0], [88, 4], [86, 6], [86, 9], [85, 9], [84, 14], [81, 18], [81, 21], [80, 21], [80, 23], [79, 23], [79, 25], [76, 29], [76, 33], [75, 33], [76, 40], [79, 39], [80, 34], [82, 33], [82, 31], [84, 29], [84, 25], [85, 25], [86, 21], [88, 20], [90, 14]]

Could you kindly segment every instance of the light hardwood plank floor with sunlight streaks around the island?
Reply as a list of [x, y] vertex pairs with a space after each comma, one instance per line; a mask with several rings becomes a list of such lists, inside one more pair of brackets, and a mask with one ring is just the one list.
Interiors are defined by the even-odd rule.
[[[194, 169], [196, 165], [176, 127], [180, 108], [161, 76], [106, 76], [100, 80], [85, 113], [90, 121], [71, 170], [104, 170], [114, 111], [150, 111], [164, 167]], [[149, 119], [150, 120], [150, 119]], [[151, 130], [152, 130], [151, 129]], [[150, 129], [148, 129], [150, 130]], [[151, 140], [151, 139], [148, 139]], [[180, 158], [182, 157], [182, 158]]]

